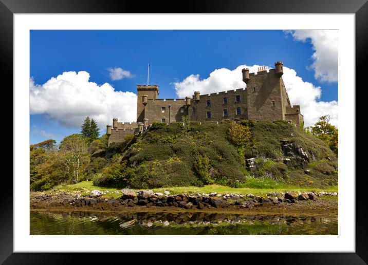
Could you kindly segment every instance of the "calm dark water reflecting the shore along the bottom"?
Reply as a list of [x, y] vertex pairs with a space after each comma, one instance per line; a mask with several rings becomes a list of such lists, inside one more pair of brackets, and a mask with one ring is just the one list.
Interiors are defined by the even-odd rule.
[[31, 235], [337, 235], [337, 215], [30, 213]]

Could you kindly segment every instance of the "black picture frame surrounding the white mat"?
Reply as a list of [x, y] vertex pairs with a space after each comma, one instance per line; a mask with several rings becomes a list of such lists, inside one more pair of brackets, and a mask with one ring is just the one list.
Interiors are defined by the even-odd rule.
[[[368, 54], [368, 3], [367, 0], [189, 0], [183, 2], [128, 1], [128, 0], [0, 0], [0, 65], [3, 77], [8, 81], [7, 87], [13, 87], [13, 14], [14, 13], [355, 13], [356, 23], [356, 82], [364, 84], [365, 67]], [[179, 8], [176, 8], [179, 7]], [[6, 88], [6, 86], [4, 86]], [[10, 89], [8, 89], [10, 91]], [[10, 97], [12, 98], [12, 94]], [[10, 122], [12, 123], [12, 121]], [[9, 123], [8, 123], [9, 124]], [[14, 139], [13, 139], [14, 140]], [[354, 154], [351, 154], [354, 155]], [[351, 165], [355, 168], [355, 165]], [[4, 176], [5, 177], [5, 176]], [[344, 176], [353, 178], [355, 176]], [[283, 264], [366, 264], [368, 262], [367, 207], [364, 194], [365, 174], [356, 178], [356, 252], [355, 253], [246, 253], [241, 259], [249, 262], [267, 261]], [[84, 262], [108, 262], [112, 257], [141, 259], [146, 254], [128, 253], [13, 253], [13, 209], [12, 181], [2, 188], [0, 203], [0, 262], [4, 264], [56, 264], [75, 263], [76, 258]], [[180, 240], [179, 240], [180, 241]], [[195, 244], [199, 242], [193, 242]], [[270, 244], [272, 242], [265, 242]], [[300, 242], [302, 243], [302, 242]], [[364, 251], [365, 249], [365, 251]], [[287, 246], [285, 246], [287, 250]], [[124, 255], [124, 256], [122, 256]], [[234, 254], [231, 254], [234, 255]], [[152, 255], [150, 255], [152, 256]], [[207, 255], [207, 262], [217, 259], [217, 254]], [[251, 257], [250, 257], [251, 256]], [[178, 256], [176, 256], [178, 257]], [[150, 257], [151, 261], [154, 261]], [[214, 261], [216, 261], [214, 259]], [[165, 261], [165, 257], [164, 260]], [[160, 262], [157, 260], [156, 262]], [[189, 255], [180, 255], [174, 262], [193, 262]]]

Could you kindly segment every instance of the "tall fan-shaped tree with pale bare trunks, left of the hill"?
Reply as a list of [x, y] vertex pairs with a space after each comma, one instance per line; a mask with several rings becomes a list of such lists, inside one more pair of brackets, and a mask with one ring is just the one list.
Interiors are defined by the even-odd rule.
[[69, 135], [60, 142], [59, 148], [65, 172], [73, 183], [77, 183], [81, 167], [86, 164], [89, 158], [87, 138], [81, 134]]

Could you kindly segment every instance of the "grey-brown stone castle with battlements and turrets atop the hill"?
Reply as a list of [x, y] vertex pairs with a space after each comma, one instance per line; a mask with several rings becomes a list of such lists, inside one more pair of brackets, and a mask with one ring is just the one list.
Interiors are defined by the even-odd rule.
[[304, 125], [300, 105], [290, 104], [282, 80], [282, 62], [276, 62], [269, 72], [261, 67], [257, 74], [249, 73], [246, 68], [242, 74], [245, 88], [203, 95], [195, 91], [185, 99], [158, 99], [157, 85], [138, 85], [137, 122], [113, 119], [113, 125], [107, 125], [108, 144], [123, 142], [126, 135], [139, 134], [153, 122], [179, 122], [183, 115], [198, 122], [252, 119]]

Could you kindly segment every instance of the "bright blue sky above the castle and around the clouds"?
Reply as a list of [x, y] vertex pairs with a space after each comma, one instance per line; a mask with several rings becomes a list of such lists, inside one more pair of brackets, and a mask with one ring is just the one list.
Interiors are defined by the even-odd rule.
[[[327, 37], [328, 35], [329, 33]], [[136, 85], [146, 84], [147, 64], [150, 63], [150, 84], [159, 85], [159, 97], [178, 98], [181, 95], [180, 89], [185, 89], [185, 84], [181, 82], [192, 74], [199, 75], [195, 82], [200, 85], [215, 69], [234, 70], [241, 65], [264, 65], [272, 68], [274, 62], [283, 61], [284, 67], [295, 70], [296, 77], [301, 78], [303, 84], [311, 83], [313, 88], [310, 89], [321, 92], [320, 98], [315, 98], [317, 103], [329, 103], [338, 101], [338, 83], [336, 77], [327, 77], [325, 70], [334, 68], [337, 62], [330, 62], [329, 58], [325, 58], [325, 62], [322, 62], [326, 47], [319, 42], [320, 39], [322, 37], [314, 32], [282, 30], [31, 30], [30, 78], [32, 84], [30, 89], [31, 94], [34, 89], [44, 88], [50, 91], [61, 89], [62, 82], [56, 82], [50, 86], [43, 85], [63, 72], [85, 71], [89, 73], [89, 82], [97, 83], [97, 86], [108, 83], [115, 92], [135, 93]], [[313, 57], [313, 54], [317, 56]], [[120, 80], [112, 80], [108, 70], [111, 68], [121, 68], [127, 74]], [[324, 74], [327, 78], [318, 77], [318, 73]], [[336, 74], [337, 70], [330, 75]], [[285, 77], [283, 78], [285, 81]], [[76, 80], [75, 78], [68, 81], [61, 79], [64, 85], [70, 85], [74, 82], [70, 80]], [[241, 72], [239, 79], [241, 81]], [[83, 80], [84, 83], [88, 83], [88, 80]], [[70, 90], [77, 86], [78, 89], [84, 89], [82, 81], [75, 82], [75, 85], [72, 84], [70, 88], [65, 89]], [[220, 87], [216, 89], [228, 90]], [[292, 89], [296, 90], [296, 88]], [[75, 113], [81, 112], [79, 118], [71, 117], [74, 112], [65, 111], [66, 105], [63, 104], [63, 100], [66, 99], [63, 99], [63, 96], [59, 97], [59, 94], [44, 90], [42, 93], [34, 93], [34, 97], [31, 97], [31, 144], [49, 138], [60, 141], [69, 134], [78, 133], [80, 130], [78, 119], [88, 113], [76, 107]], [[78, 94], [86, 90], [81, 91]], [[89, 99], [89, 94], [86, 91], [81, 100], [93, 101], [89, 105], [96, 106], [98, 109], [96, 103], [98, 99]], [[128, 96], [128, 94], [124, 95]], [[132, 94], [129, 95], [132, 96]], [[45, 102], [43, 100], [50, 98], [58, 98], [58, 103], [50, 104], [51, 106], [43, 104]], [[292, 104], [299, 104], [300, 97], [296, 95], [295, 98], [296, 102]], [[58, 106], [59, 103], [60, 106]], [[109, 104], [109, 102], [101, 101], [99, 104]], [[78, 102], [76, 105], [80, 106]], [[308, 107], [305, 109], [307, 110]], [[64, 111], [64, 116], [69, 117], [73, 122], [66, 121], [67, 117], [62, 116]], [[104, 111], [109, 112], [114, 109]], [[89, 116], [94, 117], [94, 113], [92, 111]], [[106, 113], [108, 120], [113, 118], [110, 117], [112, 115], [114, 114]], [[121, 117], [126, 118], [127, 116], [124, 115], [124, 113], [121, 114]], [[335, 119], [337, 120], [337, 117]], [[106, 118], [96, 116], [96, 120], [101, 128], [100, 133], [103, 134]]]

